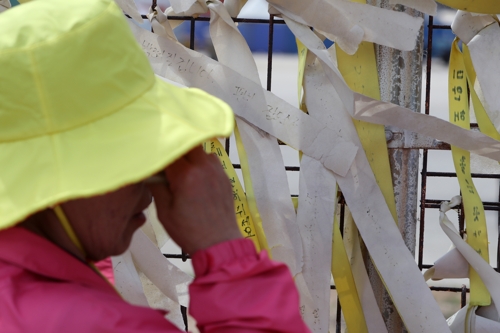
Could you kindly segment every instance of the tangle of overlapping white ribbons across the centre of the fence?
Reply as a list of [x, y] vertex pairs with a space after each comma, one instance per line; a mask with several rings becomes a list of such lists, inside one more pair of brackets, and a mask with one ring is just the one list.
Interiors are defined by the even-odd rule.
[[[204, 89], [233, 108], [249, 156], [257, 205], [273, 257], [287, 263], [294, 274], [301, 292], [301, 310], [313, 331], [328, 329], [328, 268], [336, 200], [333, 189], [338, 183], [408, 330], [449, 332], [401, 239], [351, 117], [424, 134], [495, 160], [500, 160], [500, 143], [444, 120], [352, 92], [338, 72], [331, 52], [309, 28], [312, 25], [348, 53], [355, 52], [363, 40], [410, 50], [422, 19], [346, 0], [268, 2], [311, 51], [313, 58], [309, 59], [304, 82], [309, 114], [265, 91], [259, 84], [249, 48], [231, 19], [241, 9], [242, 1], [226, 1], [223, 5], [218, 1], [175, 0], [166, 11], [197, 15], [208, 9], [210, 33], [219, 62], [180, 45], [171, 33], [165, 13], [158, 9], [149, 16], [157, 34], [132, 22], [131, 28], [146, 51], [162, 55], [150, 58], [157, 75]], [[429, 13], [435, 11], [432, 0], [397, 3]], [[289, 199], [276, 138], [304, 153], [297, 214]], [[367, 281], [356, 284], [363, 290], [360, 294], [364, 301], [373, 300], [370, 288], [363, 289]], [[365, 316], [380, 323], [380, 313], [376, 311], [365, 311]], [[383, 322], [378, 328], [370, 326], [370, 330], [383, 332]]]

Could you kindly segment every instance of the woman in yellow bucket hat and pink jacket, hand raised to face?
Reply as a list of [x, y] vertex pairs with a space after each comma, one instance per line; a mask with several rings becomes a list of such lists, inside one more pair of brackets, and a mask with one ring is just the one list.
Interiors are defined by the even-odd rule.
[[[192, 256], [200, 331], [308, 331], [289, 271], [241, 237], [199, 147], [231, 133], [225, 103], [157, 79], [109, 0], [33, 1], [0, 31], [1, 332], [177, 332], [93, 265], [127, 249], [152, 198]], [[157, 173], [168, 185], [144, 182]]]

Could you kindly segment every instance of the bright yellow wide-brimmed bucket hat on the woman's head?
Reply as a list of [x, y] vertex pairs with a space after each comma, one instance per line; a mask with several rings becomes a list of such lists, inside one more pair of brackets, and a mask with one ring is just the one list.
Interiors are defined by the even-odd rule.
[[0, 31], [0, 229], [232, 132], [227, 104], [155, 77], [113, 1], [29, 2]]

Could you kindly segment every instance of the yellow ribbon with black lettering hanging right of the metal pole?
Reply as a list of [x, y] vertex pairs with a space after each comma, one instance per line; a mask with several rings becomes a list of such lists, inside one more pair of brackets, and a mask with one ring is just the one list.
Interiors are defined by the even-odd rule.
[[[472, 74], [472, 73], [471, 73]], [[458, 48], [458, 38], [451, 47], [448, 72], [448, 100], [450, 122], [465, 129], [470, 129], [469, 104], [467, 98], [467, 73]], [[453, 163], [462, 191], [467, 243], [479, 255], [489, 262], [488, 234], [483, 203], [479, 197], [470, 173], [470, 153], [467, 150], [451, 146]], [[469, 306], [487, 306], [491, 303], [488, 289], [479, 275], [469, 266], [470, 302]]]

